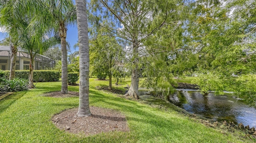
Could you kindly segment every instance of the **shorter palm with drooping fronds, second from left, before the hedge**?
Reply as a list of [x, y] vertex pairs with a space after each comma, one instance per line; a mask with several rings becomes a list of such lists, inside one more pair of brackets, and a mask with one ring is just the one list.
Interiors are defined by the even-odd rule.
[[[37, 14], [35, 14], [37, 15]], [[58, 36], [47, 35], [50, 30], [50, 24], [40, 21], [38, 16], [26, 15], [20, 22], [18, 33], [20, 47], [28, 52], [30, 57], [29, 64], [29, 88], [34, 88], [33, 83], [33, 70], [34, 59], [37, 53], [43, 53], [48, 48], [53, 47], [60, 43]]]

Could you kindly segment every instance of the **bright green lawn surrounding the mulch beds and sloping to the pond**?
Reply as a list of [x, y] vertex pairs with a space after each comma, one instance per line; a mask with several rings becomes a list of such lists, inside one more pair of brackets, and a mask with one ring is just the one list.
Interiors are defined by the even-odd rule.
[[[152, 108], [95, 90], [108, 81], [90, 78], [90, 106], [122, 112], [129, 132], [100, 133], [89, 137], [60, 130], [50, 120], [54, 114], [78, 107], [78, 97], [52, 98], [41, 96], [59, 91], [61, 82], [36, 84], [36, 89], [16, 92], [0, 100], [0, 143], [250, 143], [242, 133], [229, 133], [206, 127], [175, 111]], [[129, 81], [128, 81], [129, 82]], [[127, 82], [127, 83], [128, 83]], [[126, 82], [122, 82], [126, 86]], [[78, 91], [79, 86], [69, 86]], [[222, 133], [221, 133], [222, 132]]]

